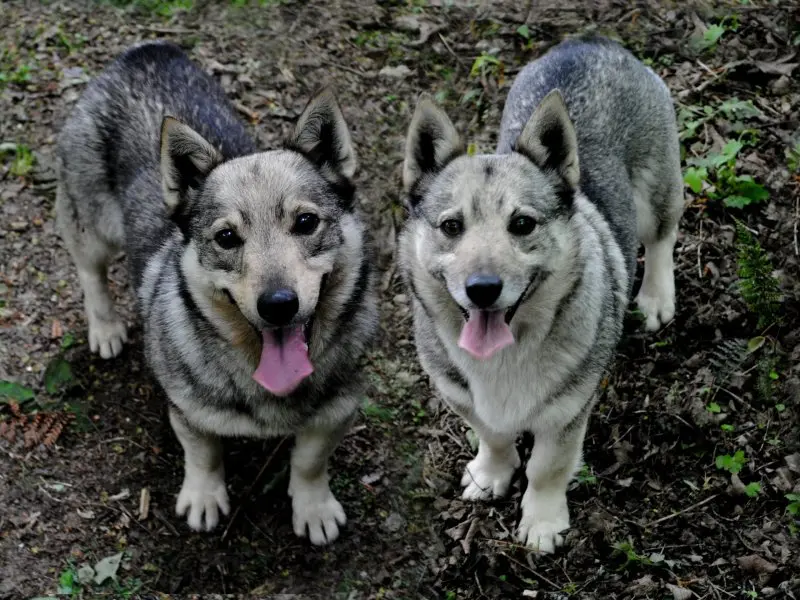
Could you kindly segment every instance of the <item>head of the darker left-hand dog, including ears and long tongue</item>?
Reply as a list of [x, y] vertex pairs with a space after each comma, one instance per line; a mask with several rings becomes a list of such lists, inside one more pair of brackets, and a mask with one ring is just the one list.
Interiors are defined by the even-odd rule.
[[231, 160], [164, 119], [163, 193], [186, 242], [184, 272], [225, 327], [262, 338], [254, 377], [277, 394], [310, 374], [308, 327], [326, 281], [360, 247], [352, 239], [354, 229], [360, 236], [355, 170], [347, 125], [327, 89], [308, 103], [286, 148]]

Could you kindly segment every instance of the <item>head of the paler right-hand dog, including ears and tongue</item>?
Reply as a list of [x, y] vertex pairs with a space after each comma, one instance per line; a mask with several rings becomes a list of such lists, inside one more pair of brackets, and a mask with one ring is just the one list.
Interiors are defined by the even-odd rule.
[[508, 155], [468, 156], [447, 115], [420, 99], [403, 168], [410, 245], [461, 309], [460, 345], [474, 356], [512, 343], [514, 315], [564, 269], [579, 176], [575, 130], [557, 90]]

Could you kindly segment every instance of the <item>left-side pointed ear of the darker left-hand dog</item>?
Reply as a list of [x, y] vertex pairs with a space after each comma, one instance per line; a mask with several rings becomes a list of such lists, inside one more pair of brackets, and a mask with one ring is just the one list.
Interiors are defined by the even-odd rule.
[[199, 188], [222, 162], [214, 146], [173, 117], [161, 122], [161, 186], [167, 214], [173, 215], [189, 190]]

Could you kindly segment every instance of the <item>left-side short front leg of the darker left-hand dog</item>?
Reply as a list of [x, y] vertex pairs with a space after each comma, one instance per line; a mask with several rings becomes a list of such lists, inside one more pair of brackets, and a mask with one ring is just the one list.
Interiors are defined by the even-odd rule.
[[225, 467], [219, 438], [194, 429], [183, 415], [170, 407], [169, 421], [178, 436], [185, 457], [184, 479], [175, 512], [188, 513], [187, 522], [195, 531], [211, 531], [219, 522], [219, 513], [230, 511], [225, 489]]

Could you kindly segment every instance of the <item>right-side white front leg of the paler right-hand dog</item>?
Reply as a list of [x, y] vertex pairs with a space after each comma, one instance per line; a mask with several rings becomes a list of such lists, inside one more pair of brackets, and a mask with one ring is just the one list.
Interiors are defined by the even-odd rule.
[[525, 474], [522, 519], [517, 537], [539, 552], [555, 552], [569, 528], [567, 485], [581, 460], [589, 411], [584, 410], [561, 431], [536, 432]]

